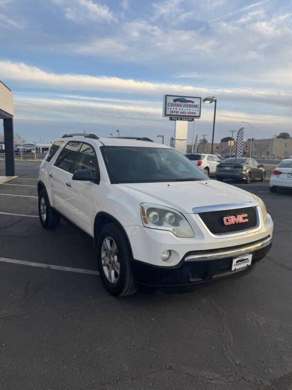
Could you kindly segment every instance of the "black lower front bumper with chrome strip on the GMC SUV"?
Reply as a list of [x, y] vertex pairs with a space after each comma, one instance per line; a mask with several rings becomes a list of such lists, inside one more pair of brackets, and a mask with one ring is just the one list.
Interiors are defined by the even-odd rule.
[[[174, 267], [157, 267], [133, 259], [132, 270], [137, 283], [140, 284], [157, 287], [186, 286], [238, 274], [253, 267], [271, 247], [272, 238], [267, 236], [254, 243], [225, 250], [190, 252]], [[234, 257], [251, 253], [253, 254], [251, 266], [240, 271], [231, 271]]]

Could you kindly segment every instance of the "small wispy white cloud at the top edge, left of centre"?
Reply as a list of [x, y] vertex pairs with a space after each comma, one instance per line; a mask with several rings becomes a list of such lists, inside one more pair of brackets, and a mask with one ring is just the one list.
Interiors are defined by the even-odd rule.
[[61, 8], [67, 19], [77, 23], [87, 21], [115, 21], [110, 8], [105, 4], [99, 4], [92, 0], [52, 0]]

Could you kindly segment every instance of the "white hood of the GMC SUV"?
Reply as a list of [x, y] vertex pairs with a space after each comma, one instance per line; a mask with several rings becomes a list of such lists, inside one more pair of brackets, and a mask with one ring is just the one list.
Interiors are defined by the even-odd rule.
[[131, 200], [192, 214], [194, 207], [255, 201], [252, 194], [217, 180], [117, 184]]

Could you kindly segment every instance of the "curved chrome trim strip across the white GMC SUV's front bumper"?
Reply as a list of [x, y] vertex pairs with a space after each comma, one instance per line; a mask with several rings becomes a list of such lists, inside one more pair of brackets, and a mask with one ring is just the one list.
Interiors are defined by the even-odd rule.
[[205, 260], [219, 260], [226, 257], [236, 257], [241, 256], [242, 254], [250, 254], [267, 247], [272, 243], [272, 238], [270, 236], [263, 238], [262, 240], [252, 242], [250, 244], [242, 245], [239, 248], [235, 247], [234, 249], [222, 250], [218, 249], [217, 251], [200, 251], [197, 254], [191, 254], [186, 256], [184, 261], [205, 261]]

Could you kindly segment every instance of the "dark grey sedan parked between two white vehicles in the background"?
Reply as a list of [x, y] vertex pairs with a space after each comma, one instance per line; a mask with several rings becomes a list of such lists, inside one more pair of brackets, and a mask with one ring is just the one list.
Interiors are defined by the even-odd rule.
[[254, 158], [226, 158], [216, 169], [217, 180], [223, 179], [243, 179], [248, 184], [251, 180], [264, 181], [266, 171], [262, 164]]

